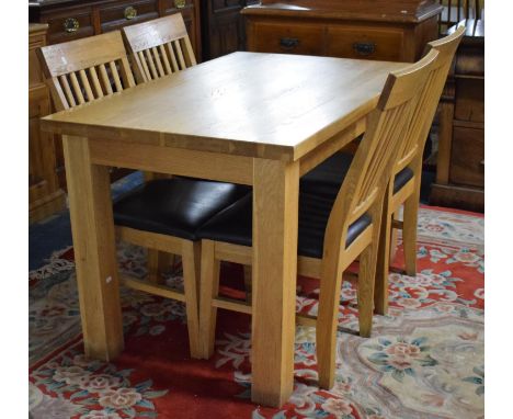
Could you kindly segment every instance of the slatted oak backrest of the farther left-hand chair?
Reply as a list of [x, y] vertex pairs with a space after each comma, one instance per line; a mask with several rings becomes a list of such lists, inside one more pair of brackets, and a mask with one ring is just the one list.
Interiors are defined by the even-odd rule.
[[196, 65], [182, 14], [155, 19], [123, 29], [137, 83]]

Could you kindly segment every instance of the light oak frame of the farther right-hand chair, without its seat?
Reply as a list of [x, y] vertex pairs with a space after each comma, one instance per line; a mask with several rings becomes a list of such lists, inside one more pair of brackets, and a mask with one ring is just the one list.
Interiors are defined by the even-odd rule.
[[417, 109], [413, 111], [412, 124], [409, 127], [408, 137], [401, 145], [398, 160], [394, 167], [394, 175], [404, 168], [413, 172], [412, 179], [394, 193], [394, 181], [390, 181], [385, 196], [384, 226], [381, 228], [380, 250], [378, 258], [378, 274], [376, 276], [375, 306], [376, 312], [386, 314], [388, 309], [388, 271], [390, 263], [390, 233], [394, 214], [401, 205], [404, 205], [402, 239], [404, 249], [406, 271], [409, 275], [415, 275], [417, 271], [417, 215], [419, 211], [420, 186], [422, 175], [422, 151], [428, 139], [431, 124], [435, 115], [440, 97], [444, 89], [445, 80], [453, 63], [454, 54], [465, 33], [461, 27], [446, 38], [428, 44], [428, 50], [436, 50], [435, 60], [426, 84], [424, 86]]

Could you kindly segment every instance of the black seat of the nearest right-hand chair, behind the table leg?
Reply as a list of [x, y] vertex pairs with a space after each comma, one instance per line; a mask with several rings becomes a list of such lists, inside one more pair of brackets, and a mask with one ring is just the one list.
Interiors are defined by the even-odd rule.
[[[334, 199], [301, 193], [299, 195], [298, 254], [322, 258], [324, 233]], [[353, 223], [345, 239], [351, 245], [371, 224], [371, 216], [364, 214]], [[252, 245], [252, 194], [214, 216], [197, 231], [202, 239], [225, 241], [233, 245]]]

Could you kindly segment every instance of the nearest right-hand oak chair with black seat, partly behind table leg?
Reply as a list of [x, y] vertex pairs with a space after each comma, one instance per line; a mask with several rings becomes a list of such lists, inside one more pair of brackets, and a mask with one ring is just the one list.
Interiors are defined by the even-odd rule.
[[[337, 326], [343, 271], [360, 256], [360, 333], [371, 335], [374, 274], [378, 252], [383, 199], [399, 146], [437, 53], [391, 73], [344, 182], [331, 196], [300, 191], [298, 274], [320, 279], [317, 317], [319, 385], [334, 380]], [[201, 337], [204, 356], [214, 351], [217, 308], [251, 314], [251, 306], [218, 296], [219, 261], [252, 262], [252, 195], [220, 212], [200, 230], [202, 240]], [[258, 295], [252, 295], [253, 304]], [[316, 324], [311, 317], [300, 321]], [[253, 360], [258, 362], [258, 360]]]

